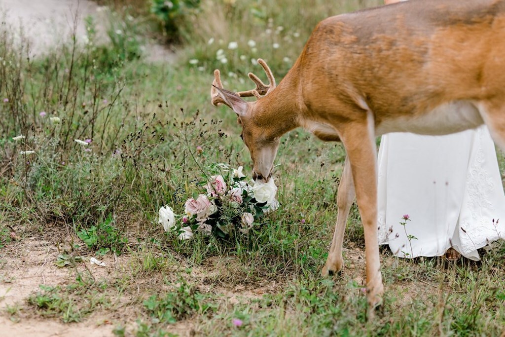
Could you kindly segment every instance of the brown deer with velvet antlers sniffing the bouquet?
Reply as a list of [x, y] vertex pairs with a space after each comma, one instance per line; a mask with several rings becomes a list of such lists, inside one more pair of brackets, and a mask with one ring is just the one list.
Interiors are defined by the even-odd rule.
[[[356, 197], [364, 226], [369, 317], [384, 286], [377, 234], [377, 149], [389, 132], [442, 135], [486, 124], [505, 151], [505, 0], [411, 0], [321, 21], [279, 85], [223, 88], [215, 70], [214, 106], [238, 116], [252, 176], [267, 182], [280, 137], [295, 128], [346, 151], [337, 222], [323, 276], [341, 271], [347, 216]], [[245, 101], [254, 97], [256, 101]]]

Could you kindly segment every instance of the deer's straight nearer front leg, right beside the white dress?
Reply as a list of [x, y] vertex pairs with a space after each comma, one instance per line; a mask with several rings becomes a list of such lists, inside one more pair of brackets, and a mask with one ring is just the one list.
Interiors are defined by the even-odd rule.
[[384, 293], [377, 238], [377, 156], [373, 115], [368, 112], [367, 121], [349, 124], [341, 130], [341, 138], [349, 158], [365, 232], [367, 298], [369, 318], [372, 318]]

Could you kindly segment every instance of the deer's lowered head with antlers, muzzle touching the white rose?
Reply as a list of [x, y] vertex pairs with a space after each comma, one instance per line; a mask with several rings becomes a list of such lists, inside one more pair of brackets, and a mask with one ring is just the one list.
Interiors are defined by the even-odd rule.
[[[280, 134], [272, 127], [270, 118], [263, 118], [265, 108], [261, 103], [264, 96], [275, 88], [275, 79], [272, 71], [265, 61], [258, 63], [267, 73], [269, 84], [263, 83], [258, 76], [249, 73], [249, 78], [256, 83], [256, 88], [248, 91], [233, 92], [223, 88], [219, 70], [214, 71], [214, 81], [211, 88], [212, 104], [219, 106], [225, 104], [238, 116], [242, 133], [240, 137], [245, 143], [252, 159], [252, 178], [258, 182], [267, 182], [272, 174], [272, 168], [277, 149], [279, 148]], [[241, 97], [256, 97], [257, 101], [246, 102]]]

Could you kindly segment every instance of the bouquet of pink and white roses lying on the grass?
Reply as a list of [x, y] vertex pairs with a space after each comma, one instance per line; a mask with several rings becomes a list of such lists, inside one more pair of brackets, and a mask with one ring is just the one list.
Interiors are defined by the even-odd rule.
[[216, 174], [197, 183], [202, 193], [186, 200], [184, 214], [176, 215], [168, 205], [160, 209], [158, 222], [165, 231], [178, 234], [181, 240], [194, 233], [220, 238], [234, 230], [246, 234], [261, 217], [279, 207], [272, 178], [263, 184], [246, 182], [242, 166], [231, 169], [216, 164], [210, 170]]

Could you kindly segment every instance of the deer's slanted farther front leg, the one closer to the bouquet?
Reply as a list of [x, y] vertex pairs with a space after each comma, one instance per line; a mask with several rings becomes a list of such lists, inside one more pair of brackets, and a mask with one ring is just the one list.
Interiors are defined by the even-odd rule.
[[354, 190], [354, 183], [352, 182], [349, 158], [345, 157], [344, 169], [337, 192], [337, 223], [335, 225], [328, 259], [326, 259], [326, 264], [321, 273], [323, 276], [333, 275], [342, 270], [342, 242], [350, 207], [352, 206], [355, 196], [356, 193]]

